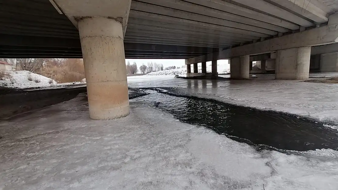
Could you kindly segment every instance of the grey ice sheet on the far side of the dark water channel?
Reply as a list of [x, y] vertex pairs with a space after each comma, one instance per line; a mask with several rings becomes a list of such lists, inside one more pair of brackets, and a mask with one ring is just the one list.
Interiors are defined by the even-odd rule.
[[[337, 73], [334, 73], [337, 75]], [[312, 74], [331, 76], [332, 73]], [[219, 101], [276, 110], [312, 117], [338, 124], [338, 84], [274, 80], [274, 75], [263, 75], [264, 80], [185, 80], [168, 76], [129, 77], [130, 87], [177, 87], [173, 92], [216, 99]], [[266, 79], [267, 78], [267, 79]]]

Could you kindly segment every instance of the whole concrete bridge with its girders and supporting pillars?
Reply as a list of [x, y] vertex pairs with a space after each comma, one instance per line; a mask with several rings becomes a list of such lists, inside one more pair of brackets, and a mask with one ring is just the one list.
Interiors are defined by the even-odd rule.
[[[3, 0], [0, 57], [83, 57], [90, 117], [111, 119], [129, 114], [125, 58], [186, 59], [190, 76], [198, 63], [217, 76], [217, 60], [231, 59], [231, 77], [246, 79], [250, 60], [266, 57], [252, 56], [268, 54], [261, 65], [276, 79], [307, 79], [311, 48], [338, 42], [337, 10], [332, 0]], [[322, 69], [337, 57], [321, 56], [335, 60]]]

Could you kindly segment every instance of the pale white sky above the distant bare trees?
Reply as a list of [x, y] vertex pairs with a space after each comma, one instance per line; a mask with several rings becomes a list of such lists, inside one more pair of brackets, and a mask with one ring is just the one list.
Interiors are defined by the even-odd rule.
[[[148, 62], [156, 62], [156, 63], [162, 63], [163, 67], [168, 67], [168, 66], [176, 66], [176, 67], [180, 67], [185, 65], [185, 59], [126, 59], [126, 63], [130, 61], [130, 64], [132, 64], [133, 62], [136, 62], [137, 66], [140, 67], [142, 65], [142, 63], [144, 63], [145, 65], [147, 65]], [[218, 60], [217, 61], [218, 64], [220, 63], [228, 63], [228, 60]], [[199, 63], [201, 64], [201, 63]], [[207, 62], [207, 65], [211, 64], [211, 61]]]

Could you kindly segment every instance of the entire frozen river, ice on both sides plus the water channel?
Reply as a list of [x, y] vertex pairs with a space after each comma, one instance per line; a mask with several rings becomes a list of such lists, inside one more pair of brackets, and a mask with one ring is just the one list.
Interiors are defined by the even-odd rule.
[[[116, 120], [89, 119], [86, 95], [80, 94], [68, 102], [0, 121], [0, 189], [338, 187], [337, 85], [259, 79], [202, 81], [172, 76], [128, 77], [128, 85], [155, 87], [165, 93], [141, 90], [149, 94], [132, 99], [130, 115]], [[226, 103], [284, 111], [320, 122], [277, 112], [271, 118], [260, 117], [255, 112], [261, 111]], [[232, 109], [241, 114], [222, 115]], [[196, 118], [191, 119], [194, 115]], [[263, 131], [245, 126], [246, 117], [256, 118], [252, 126]], [[241, 118], [243, 122], [235, 121]], [[221, 131], [226, 119], [230, 123], [234, 120], [239, 129]], [[270, 123], [263, 125], [263, 121], [273, 119], [276, 122], [271, 127], [284, 127], [283, 122], [289, 119], [291, 123], [299, 121], [289, 122], [289, 127], [299, 128], [290, 129], [294, 133], [286, 133], [285, 128], [264, 132]], [[307, 132], [316, 135], [304, 135]], [[236, 139], [241, 134], [253, 144]], [[262, 139], [265, 141], [256, 141]], [[284, 139], [285, 144], [281, 144]], [[272, 148], [264, 146], [267, 144]]]

